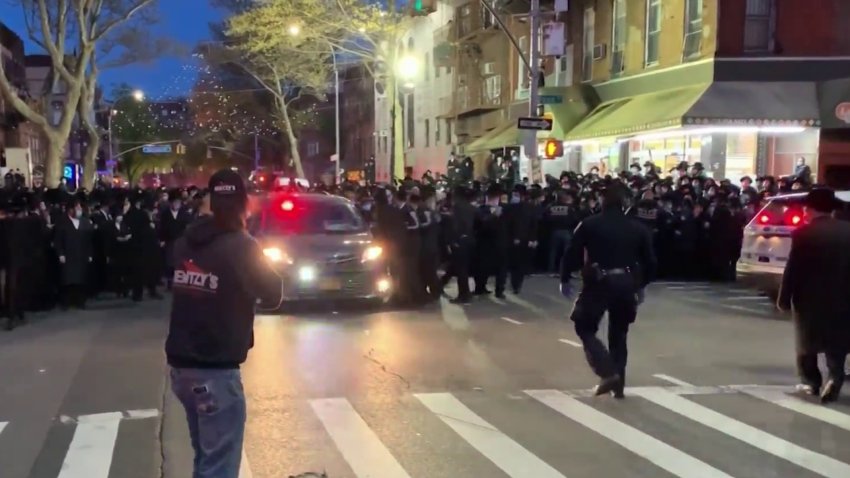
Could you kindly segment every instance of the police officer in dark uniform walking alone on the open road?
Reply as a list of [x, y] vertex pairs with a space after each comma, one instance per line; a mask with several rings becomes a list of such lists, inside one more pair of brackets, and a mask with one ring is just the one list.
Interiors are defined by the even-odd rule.
[[[624, 186], [606, 188], [602, 213], [579, 224], [561, 269], [565, 297], [572, 296], [573, 272], [582, 271], [583, 288], [571, 319], [587, 361], [601, 379], [596, 395], [613, 392], [617, 398], [623, 397], [625, 386], [629, 325], [656, 267], [650, 232], [623, 213], [626, 199]], [[610, 353], [596, 336], [605, 312]]]

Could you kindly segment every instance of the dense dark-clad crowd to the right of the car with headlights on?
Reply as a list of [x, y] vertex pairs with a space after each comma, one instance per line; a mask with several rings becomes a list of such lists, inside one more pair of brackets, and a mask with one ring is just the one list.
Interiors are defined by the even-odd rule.
[[[393, 187], [343, 186], [387, 245], [401, 302], [436, 300], [453, 277], [454, 300], [463, 303], [490, 293], [491, 277], [503, 297], [508, 278], [519, 293], [527, 274], [556, 274], [575, 228], [601, 211], [612, 184], [629, 188], [627, 214], [652, 232], [658, 277], [732, 281], [744, 226], [770, 197], [811, 186], [802, 161], [794, 175], [743, 177], [738, 184], [708, 177], [701, 163], [682, 162], [662, 175], [647, 162], [614, 175], [565, 171], [542, 185], [518, 180], [514, 162], [499, 161], [496, 175], [479, 181], [470, 181], [468, 158], [452, 158], [440, 180], [427, 172]], [[445, 273], [437, 279], [441, 264]], [[474, 279], [473, 290], [466, 277]]]

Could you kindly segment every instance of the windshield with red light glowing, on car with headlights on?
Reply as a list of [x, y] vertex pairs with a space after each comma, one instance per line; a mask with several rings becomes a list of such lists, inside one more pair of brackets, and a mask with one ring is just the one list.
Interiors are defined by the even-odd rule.
[[360, 213], [341, 201], [283, 201], [266, 215], [265, 234], [350, 234], [366, 230]]

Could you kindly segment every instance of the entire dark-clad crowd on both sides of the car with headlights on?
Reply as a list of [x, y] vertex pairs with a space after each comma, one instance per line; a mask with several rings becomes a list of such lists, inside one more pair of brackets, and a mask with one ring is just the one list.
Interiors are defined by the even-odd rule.
[[[770, 196], [810, 186], [805, 168], [734, 185], [708, 177], [700, 163], [683, 162], [663, 175], [646, 163], [615, 175], [594, 168], [530, 184], [511, 172], [513, 158], [479, 181], [456, 167], [466, 163], [453, 159], [439, 179], [429, 172], [395, 185], [313, 188], [348, 197], [372, 223], [400, 304], [438, 300], [452, 278], [453, 300], [464, 303], [491, 293], [490, 278], [495, 295], [504, 297], [508, 289], [519, 293], [529, 273], [557, 274], [576, 226], [600, 211], [601, 195], [614, 183], [630, 188], [627, 214], [653, 233], [660, 277], [734, 280], [744, 225]], [[9, 328], [28, 311], [84, 308], [91, 298], [161, 298], [160, 288], [170, 287], [175, 241], [209, 214], [206, 190], [196, 187], [70, 193], [64, 184], [29, 190], [7, 179], [0, 195], [0, 311]]]

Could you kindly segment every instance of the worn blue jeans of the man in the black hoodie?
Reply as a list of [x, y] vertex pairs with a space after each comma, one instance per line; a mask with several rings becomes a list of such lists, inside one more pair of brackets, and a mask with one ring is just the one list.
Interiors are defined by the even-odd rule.
[[186, 410], [192, 478], [238, 478], [246, 419], [239, 370], [172, 368], [171, 390]]

